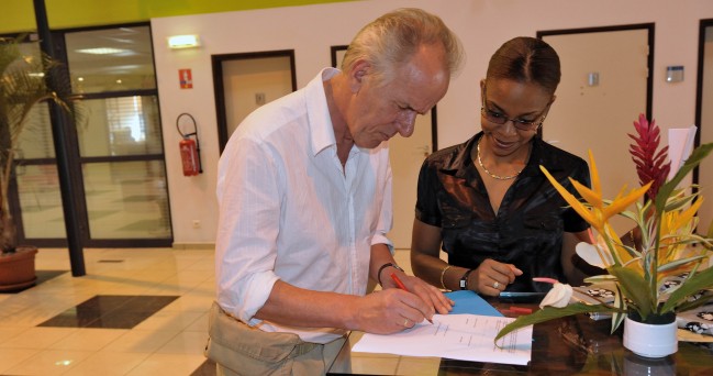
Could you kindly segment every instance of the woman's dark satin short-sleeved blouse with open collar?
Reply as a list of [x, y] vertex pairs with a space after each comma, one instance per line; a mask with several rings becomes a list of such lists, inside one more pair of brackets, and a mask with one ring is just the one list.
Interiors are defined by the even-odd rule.
[[481, 135], [438, 151], [424, 162], [416, 219], [441, 228], [449, 264], [476, 268], [486, 258], [514, 264], [524, 274], [506, 291], [547, 291], [552, 285], [532, 278], [566, 281], [560, 263], [562, 231], [579, 232], [589, 224], [568, 207], [539, 165], [576, 196], [569, 178], [589, 187], [589, 167], [582, 158], [535, 136], [527, 166], [505, 192], [495, 214], [470, 159]]

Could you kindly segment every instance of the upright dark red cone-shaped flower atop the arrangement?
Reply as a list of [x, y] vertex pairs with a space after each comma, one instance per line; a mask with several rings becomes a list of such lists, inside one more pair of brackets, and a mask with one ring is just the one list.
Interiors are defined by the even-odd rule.
[[642, 187], [653, 181], [646, 196], [648, 199], [654, 200], [658, 189], [666, 183], [668, 173], [671, 170], [671, 163], [666, 163], [668, 146], [664, 146], [664, 148], [656, 152], [661, 137], [655, 120], [649, 123], [646, 117], [640, 113], [638, 122], [634, 122], [634, 128], [638, 136], [627, 134], [636, 142], [630, 145], [628, 151], [632, 154], [632, 161], [636, 164], [636, 174]]

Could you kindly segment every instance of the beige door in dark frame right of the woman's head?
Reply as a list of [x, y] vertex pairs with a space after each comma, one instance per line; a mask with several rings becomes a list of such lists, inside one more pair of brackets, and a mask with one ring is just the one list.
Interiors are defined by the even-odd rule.
[[[623, 184], [638, 187], [628, 154], [638, 114], [650, 120], [654, 24], [537, 32], [559, 55], [561, 81], [543, 126], [543, 139], [589, 162], [591, 150], [602, 190], [614, 198]], [[628, 220], [614, 218], [616, 231]]]

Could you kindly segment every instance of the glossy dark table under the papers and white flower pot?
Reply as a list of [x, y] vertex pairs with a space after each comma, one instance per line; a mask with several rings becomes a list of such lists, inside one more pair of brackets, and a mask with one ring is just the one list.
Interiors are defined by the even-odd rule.
[[[511, 299], [489, 301], [501, 311], [516, 305], [537, 309], [535, 302]], [[506, 314], [512, 316], [512, 314]], [[611, 320], [594, 321], [578, 314], [535, 324], [532, 361], [526, 366], [415, 357], [390, 354], [352, 354], [363, 333], [352, 332], [331, 375], [713, 375], [713, 344], [679, 342], [676, 354], [653, 360], [622, 345], [623, 324], [610, 334]]]

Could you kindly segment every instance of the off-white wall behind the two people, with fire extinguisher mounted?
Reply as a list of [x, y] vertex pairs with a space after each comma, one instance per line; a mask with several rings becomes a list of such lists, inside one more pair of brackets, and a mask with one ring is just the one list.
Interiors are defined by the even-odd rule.
[[[655, 22], [654, 118], [664, 129], [694, 121], [698, 31], [701, 19], [713, 18], [710, 0], [370, 0], [153, 19], [176, 244], [211, 243], [216, 231], [219, 148], [211, 55], [292, 48], [297, 84], [303, 87], [330, 66], [330, 46], [347, 44], [364, 24], [400, 7], [438, 14], [466, 47], [464, 70], [438, 103], [439, 147], [463, 142], [480, 130], [478, 80], [484, 76], [490, 55], [513, 36], [535, 36], [544, 30]], [[200, 34], [203, 45], [169, 51], [166, 37], [177, 34]], [[683, 82], [665, 82], [669, 65], [686, 67]], [[193, 89], [179, 88], [180, 68], [192, 69]], [[186, 178], [180, 173], [175, 120], [181, 112], [191, 113], [198, 122], [204, 170], [199, 177]], [[201, 229], [192, 228], [193, 219], [201, 221]]]

